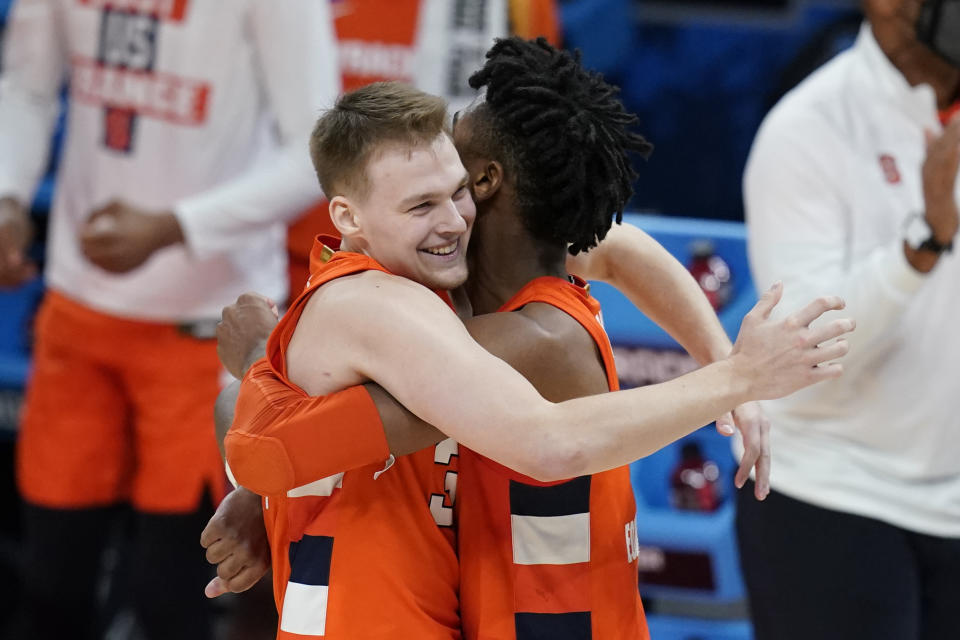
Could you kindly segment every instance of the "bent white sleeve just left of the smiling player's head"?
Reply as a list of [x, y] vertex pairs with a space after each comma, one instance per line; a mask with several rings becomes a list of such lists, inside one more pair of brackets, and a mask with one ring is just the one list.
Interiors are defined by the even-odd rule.
[[176, 204], [187, 246], [199, 256], [290, 221], [322, 196], [308, 143], [340, 91], [329, 2], [257, 0], [248, 25], [281, 146], [270, 162]]

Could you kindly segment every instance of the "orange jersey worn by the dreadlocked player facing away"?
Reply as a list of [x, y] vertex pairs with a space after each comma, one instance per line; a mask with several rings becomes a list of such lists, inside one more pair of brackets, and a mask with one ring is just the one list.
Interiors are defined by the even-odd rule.
[[[537, 278], [500, 311], [533, 302], [557, 307], [590, 333], [610, 390], [617, 390], [600, 305], [583, 283]], [[543, 483], [468, 449], [461, 450], [460, 467], [464, 638], [649, 638], [637, 588], [636, 503], [627, 467]]]

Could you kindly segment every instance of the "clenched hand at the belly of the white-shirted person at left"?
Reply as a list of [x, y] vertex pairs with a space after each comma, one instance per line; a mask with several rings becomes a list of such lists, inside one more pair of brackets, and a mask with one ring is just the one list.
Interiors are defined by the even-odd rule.
[[132, 271], [154, 252], [180, 242], [183, 230], [172, 211], [145, 211], [119, 200], [91, 213], [80, 233], [83, 255], [113, 273]]

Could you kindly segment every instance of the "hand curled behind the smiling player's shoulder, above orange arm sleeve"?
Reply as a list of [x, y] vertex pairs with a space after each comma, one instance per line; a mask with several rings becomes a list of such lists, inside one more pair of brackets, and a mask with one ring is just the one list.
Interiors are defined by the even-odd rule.
[[250, 365], [263, 357], [267, 338], [279, 319], [277, 305], [259, 293], [241, 294], [223, 308], [217, 325], [217, 355], [235, 378], [243, 378]]

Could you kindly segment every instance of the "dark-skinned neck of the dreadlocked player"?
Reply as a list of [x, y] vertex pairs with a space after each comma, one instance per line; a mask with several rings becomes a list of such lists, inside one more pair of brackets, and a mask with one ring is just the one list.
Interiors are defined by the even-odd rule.
[[468, 255], [466, 291], [476, 314], [497, 311], [534, 278], [567, 277], [566, 248], [535, 239], [515, 211], [496, 202], [478, 206]]

